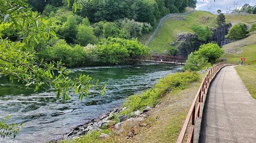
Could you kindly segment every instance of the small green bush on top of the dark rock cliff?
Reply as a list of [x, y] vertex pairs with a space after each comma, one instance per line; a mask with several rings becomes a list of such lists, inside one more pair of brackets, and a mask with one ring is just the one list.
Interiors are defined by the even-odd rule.
[[202, 27], [200, 25], [193, 25], [192, 31], [194, 31], [197, 36], [198, 40], [200, 41], [206, 41], [209, 38], [212, 38], [213, 32], [209, 29], [209, 27]]

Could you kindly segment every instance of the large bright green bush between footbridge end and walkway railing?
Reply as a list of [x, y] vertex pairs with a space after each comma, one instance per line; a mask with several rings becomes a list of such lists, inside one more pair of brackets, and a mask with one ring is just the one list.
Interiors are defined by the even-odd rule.
[[218, 44], [208, 43], [200, 46], [198, 51], [189, 54], [184, 66], [184, 71], [199, 71], [209, 67], [210, 63], [216, 62], [221, 57], [224, 50]]

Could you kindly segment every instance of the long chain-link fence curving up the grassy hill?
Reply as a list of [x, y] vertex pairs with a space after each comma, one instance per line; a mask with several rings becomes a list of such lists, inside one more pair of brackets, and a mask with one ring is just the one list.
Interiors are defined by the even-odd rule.
[[163, 18], [161, 18], [159, 20], [159, 23], [157, 24], [156, 28], [155, 28], [155, 31], [153, 32], [153, 34], [150, 36], [149, 40], [146, 42], [146, 46], [149, 46], [150, 42], [155, 38], [155, 35], [156, 33], [159, 31], [159, 28], [161, 26], [161, 24], [163, 23], [164, 20], [172, 17], [172, 16], [178, 16], [178, 15], [187, 15], [189, 13], [192, 13], [194, 12], [195, 10], [194, 9], [189, 9], [188, 11], [184, 12], [184, 13], [170, 13], [170, 14], [167, 14], [165, 15]]

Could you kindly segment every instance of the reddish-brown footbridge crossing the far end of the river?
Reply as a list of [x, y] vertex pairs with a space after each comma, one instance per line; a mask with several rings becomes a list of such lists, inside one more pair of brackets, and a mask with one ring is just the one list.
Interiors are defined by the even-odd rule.
[[134, 60], [185, 65], [187, 58], [178, 57], [178, 56], [151, 55], [151, 56], [141, 56]]

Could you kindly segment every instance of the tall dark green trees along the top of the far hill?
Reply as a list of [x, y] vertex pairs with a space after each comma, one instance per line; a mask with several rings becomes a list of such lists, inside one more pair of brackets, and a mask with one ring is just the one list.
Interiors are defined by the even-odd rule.
[[123, 18], [156, 23], [168, 13], [183, 12], [187, 6], [196, 7], [197, 0], [28, 0], [34, 11], [55, 11], [56, 7], [75, 9], [81, 17], [93, 23], [115, 21]]

